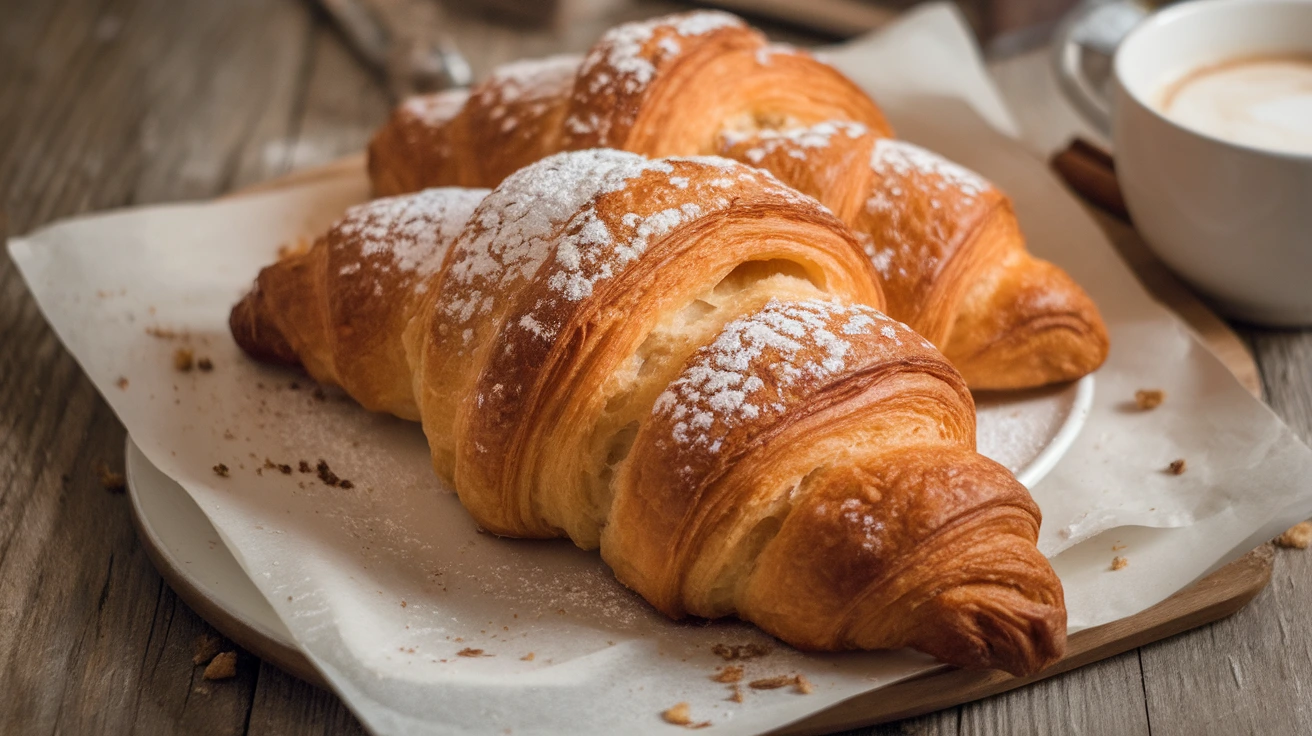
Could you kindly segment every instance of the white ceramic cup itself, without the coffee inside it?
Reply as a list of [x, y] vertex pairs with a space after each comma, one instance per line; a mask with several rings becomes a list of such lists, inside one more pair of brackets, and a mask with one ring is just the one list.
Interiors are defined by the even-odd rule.
[[[1312, 0], [1166, 8], [1117, 49], [1110, 127], [1126, 205], [1166, 265], [1229, 316], [1309, 325], [1312, 155], [1214, 138], [1153, 106], [1193, 70], [1275, 54], [1312, 56]], [[1097, 118], [1097, 104], [1082, 102]]]

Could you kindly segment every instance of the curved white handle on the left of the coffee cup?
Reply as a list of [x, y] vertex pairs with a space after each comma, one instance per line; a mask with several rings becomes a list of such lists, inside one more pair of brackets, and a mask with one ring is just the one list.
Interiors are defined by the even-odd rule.
[[1099, 133], [1111, 136], [1111, 102], [1084, 72], [1086, 50], [1105, 56], [1147, 17], [1147, 9], [1134, 1], [1085, 1], [1071, 12], [1052, 35], [1052, 71], [1061, 93]]

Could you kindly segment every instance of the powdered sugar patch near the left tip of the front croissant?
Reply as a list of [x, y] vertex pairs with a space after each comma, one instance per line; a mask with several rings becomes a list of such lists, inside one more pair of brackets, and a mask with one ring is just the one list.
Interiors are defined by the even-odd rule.
[[[358, 243], [359, 257], [375, 270], [422, 281], [442, 268], [447, 248], [487, 194], [487, 189], [449, 186], [384, 197], [350, 207], [333, 230]], [[358, 270], [359, 262], [349, 262], [340, 273]]]

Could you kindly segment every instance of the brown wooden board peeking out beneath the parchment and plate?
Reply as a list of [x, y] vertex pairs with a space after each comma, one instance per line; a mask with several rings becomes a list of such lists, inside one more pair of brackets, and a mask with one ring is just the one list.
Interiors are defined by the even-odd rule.
[[[363, 155], [349, 156], [332, 164], [297, 172], [282, 178], [261, 182], [231, 197], [273, 192], [327, 177], [342, 176], [363, 168]], [[1235, 374], [1254, 396], [1261, 398], [1262, 383], [1257, 363], [1248, 346], [1229, 327], [1185, 287], [1148, 251], [1143, 240], [1123, 220], [1090, 209], [1113, 244], [1139, 276], [1144, 286], [1164, 304], [1176, 311], [1212, 349], [1218, 358]], [[314, 668], [299, 652], [260, 638], [244, 624], [218, 611], [214, 601], [190, 585], [178, 571], [163, 564], [165, 555], [151, 548], [148, 535], [140, 534], [143, 546], [160, 568], [160, 575], [173, 586], [178, 597], [188, 602], [215, 628], [237, 642], [252, 653], [278, 666], [321, 685]], [[825, 711], [794, 723], [779, 733], [829, 733], [909, 718], [959, 703], [975, 701], [1038, 680], [1052, 677], [1086, 664], [1119, 655], [1158, 639], [1165, 639], [1204, 623], [1225, 618], [1253, 600], [1271, 579], [1274, 552], [1263, 544], [1233, 563], [1218, 569], [1194, 585], [1136, 615], [1123, 618], [1075, 634], [1067, 645], [1067, 656], [1051, 668], [1030, 676], [1013, 677], [1002, 672], [970, 672], [945, 668], [921, 677], [858, 695]]]

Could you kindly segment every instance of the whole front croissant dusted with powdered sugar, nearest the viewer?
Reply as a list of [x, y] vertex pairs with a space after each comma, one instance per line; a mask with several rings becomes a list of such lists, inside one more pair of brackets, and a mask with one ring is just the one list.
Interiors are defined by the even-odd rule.
[[1065, 645], [1039, 510], [882, 304], [851, 231], [769, 173], [588, 150], [352, 209], [231, 329], [419, 419], [482, 527], [600, 548], [670, 617], [1033, 673]]

